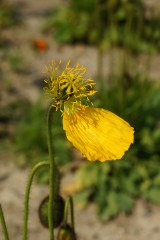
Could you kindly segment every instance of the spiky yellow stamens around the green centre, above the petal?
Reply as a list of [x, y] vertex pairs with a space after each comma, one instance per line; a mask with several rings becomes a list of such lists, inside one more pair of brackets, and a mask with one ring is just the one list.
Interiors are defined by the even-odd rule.
[[89, 100], [88, 96], [95, 93], [92, 89], [94, 81], [84, 77], [86, 69], [79, 64], [74, 68], [69, 65], [70, 61], [67, 62], [65, 69], [61, 70], [61, 61], [58, 65], [52, 61], [46, 68], [48, 77], [45, 82], [48, 86], [45, 87], [45, 91], [51, 95], [56, 109], [62, 110], [64, 103], [72, 103], [72, 108], [77, 107], [84, 99]]

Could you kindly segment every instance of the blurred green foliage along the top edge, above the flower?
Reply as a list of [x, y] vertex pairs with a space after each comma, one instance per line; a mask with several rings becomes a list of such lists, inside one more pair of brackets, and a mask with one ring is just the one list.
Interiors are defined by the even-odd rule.
[[61, 43], [127, 47], [134, 53], [160, 49], [160, 21], [147, 18], [141, 0], [70, 0], [54, 9], [44, 26]]

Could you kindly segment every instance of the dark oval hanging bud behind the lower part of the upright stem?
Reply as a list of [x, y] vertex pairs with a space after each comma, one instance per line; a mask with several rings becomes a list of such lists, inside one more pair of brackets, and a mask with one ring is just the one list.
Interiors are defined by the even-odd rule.
[[[49, 228], [48, 224], [48, 203], [49, 203], [49, 196], [45, 197], [39, 206], [39, 219], [41, 224]], [[58, 227], [64, 215], [64, 200], [63, 198], [58, 195], [53, 199], [53, 227]]]

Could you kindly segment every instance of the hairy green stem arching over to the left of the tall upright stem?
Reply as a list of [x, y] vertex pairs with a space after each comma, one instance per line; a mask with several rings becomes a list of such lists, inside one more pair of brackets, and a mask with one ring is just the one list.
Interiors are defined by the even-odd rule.
[[26, 186], [25, 203], [24, 203], [25, 208], [24, 208], [24, 223], [23, 223], [23, 240], [27, 240], [28, 215], [29, 215], [29, 195], [30, 195], [30, 191], [31, 191], [31, 185], [32, 185], [33, 177], [40, 167], [48, 166], [48, 165], [49, 165], [49, 163], [46, 162], [46, 161], [37, 163], [32, 168], [31, 173], [29, 175], [28, 183], [27, 183], [27, 186]]

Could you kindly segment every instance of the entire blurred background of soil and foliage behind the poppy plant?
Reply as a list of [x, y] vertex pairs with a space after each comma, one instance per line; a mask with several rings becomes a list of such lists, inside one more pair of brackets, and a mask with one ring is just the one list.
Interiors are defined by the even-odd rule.
[[[43, 72], [52, 59], [84, 65], [97, 82], [94, 105], [135, 128], [122, 160], [91, 163], [66, 141], [56, 113], [61, 191], [75, 198], [78, 239], [160, 239], [158, 0], [0, 0], [0, 202], [11, 238], [21, 239], [28, 171], [48, 160]], [[31, 240], [48, 238], [37, 216], [47, 183], [48, 172], [39, 171]]]

